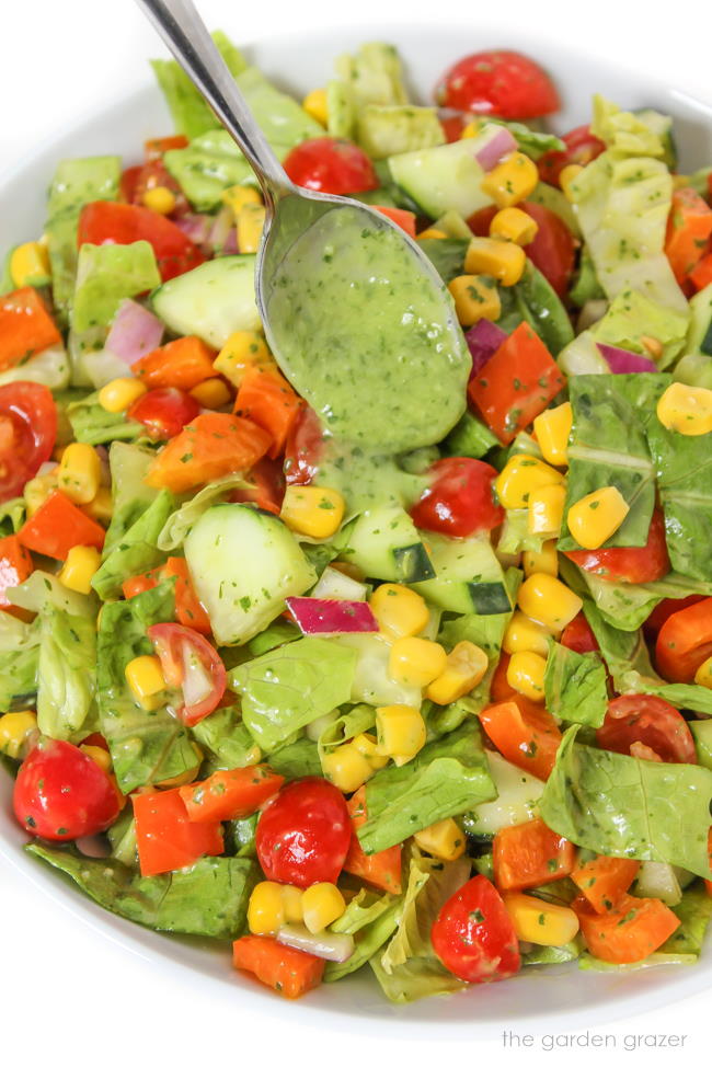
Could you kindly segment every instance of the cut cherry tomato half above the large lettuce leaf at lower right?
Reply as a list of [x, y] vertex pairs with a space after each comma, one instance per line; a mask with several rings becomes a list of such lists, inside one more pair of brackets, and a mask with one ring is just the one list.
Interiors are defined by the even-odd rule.
[[609, 701], [596, 740], [601, 748], [625, 756], [640, 743], [666, 763], [697, 763], [694, 739], [685, 716], [663, 698], [647, 693], [625, 693]]

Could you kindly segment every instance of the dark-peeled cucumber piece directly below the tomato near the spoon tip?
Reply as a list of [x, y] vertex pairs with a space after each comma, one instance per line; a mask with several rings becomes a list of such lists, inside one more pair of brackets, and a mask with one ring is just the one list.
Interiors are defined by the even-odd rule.
[[504, 574], [485, 537], [428, 535], [435, 578], [414, 583], [432, 605], [448, 612], [498, 616], [512, 611]]

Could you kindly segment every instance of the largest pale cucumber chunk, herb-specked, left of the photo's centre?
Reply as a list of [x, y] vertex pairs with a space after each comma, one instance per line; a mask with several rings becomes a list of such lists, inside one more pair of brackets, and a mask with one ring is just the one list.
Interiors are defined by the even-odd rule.
[[245, 504], [208, 508], [185, 539], [185, 559], [218, 645], [243, 645], [303, 594], [317, 574], [280, 519]]

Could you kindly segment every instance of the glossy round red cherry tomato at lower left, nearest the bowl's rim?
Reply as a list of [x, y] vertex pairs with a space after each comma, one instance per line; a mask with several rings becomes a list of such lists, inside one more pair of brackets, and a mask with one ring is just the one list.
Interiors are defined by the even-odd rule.
[[76, 745], [53, 738], [38, 742], [20, 766], [12, 804], [21, 826], [49, 841], [96, 835], [120, 811], [106, 772]]

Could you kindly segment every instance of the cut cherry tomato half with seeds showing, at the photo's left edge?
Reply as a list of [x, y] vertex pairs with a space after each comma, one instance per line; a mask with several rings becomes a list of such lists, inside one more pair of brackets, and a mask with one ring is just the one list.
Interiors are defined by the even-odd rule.
[[51, 456], [56, 438], [57, 409], [46, 386], [0, 386], [0, 502], [22, 493]]

